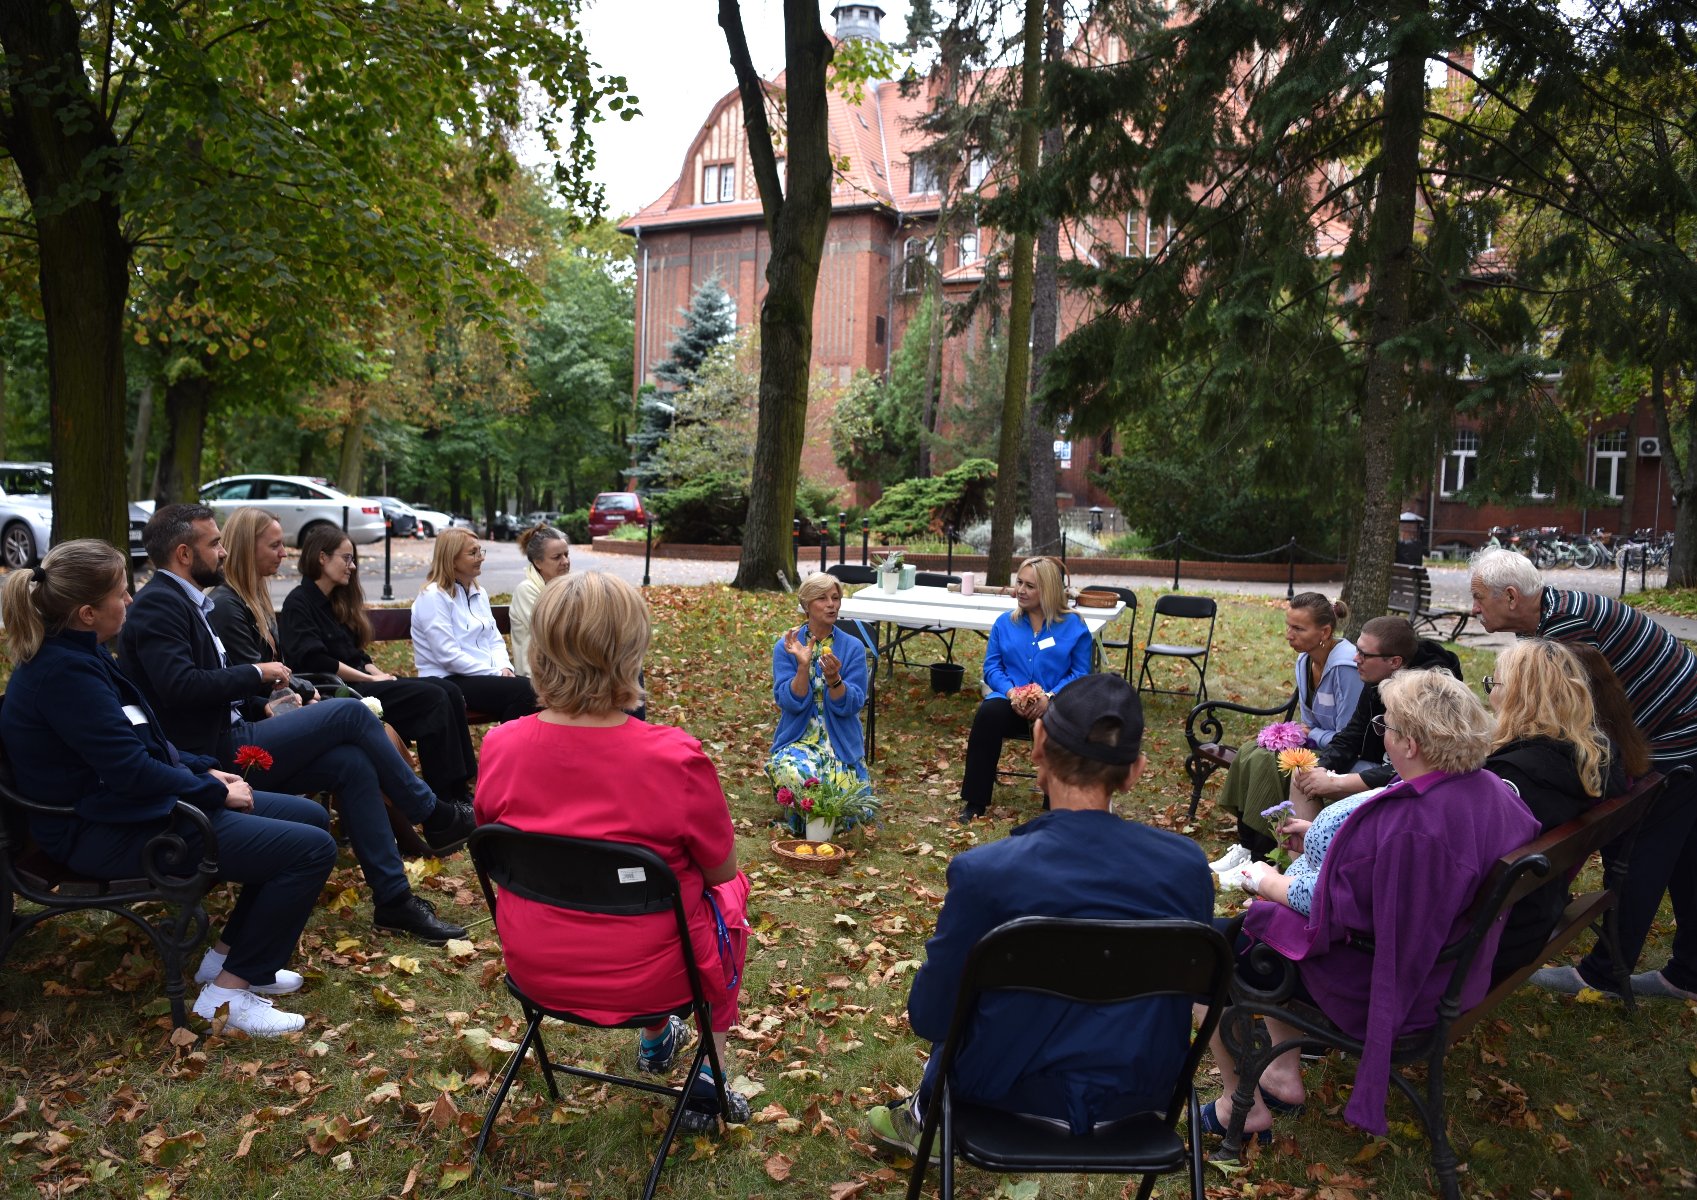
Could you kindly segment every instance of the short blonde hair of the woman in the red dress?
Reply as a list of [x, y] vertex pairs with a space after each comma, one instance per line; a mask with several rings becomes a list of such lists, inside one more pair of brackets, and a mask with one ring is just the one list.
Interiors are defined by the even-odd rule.
[[567, 716], [636, 708], [648, 636], [648, 604], [623, 579], [601, 570], [560, 575], [531, 613], [536, 699]]

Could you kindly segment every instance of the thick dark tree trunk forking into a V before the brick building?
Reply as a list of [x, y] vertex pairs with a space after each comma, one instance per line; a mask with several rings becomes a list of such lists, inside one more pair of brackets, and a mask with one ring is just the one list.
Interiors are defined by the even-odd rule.
[[[730, 46], [742, 95], [748, 154], [765, 214], [772, 256], [760, 304], [760, 404], [755, 424], [753, 482], [748, 521], [733, 587], [769, 591], [794, 570], [791, 521], [808, 429], [808, 373], [813, 362], [813, 299], [832, 216], [830, 107], [825, 93], [832, 42], [813, 0], [784, 0], [784, 148], [782, 187], [765, 83], [753, 70], [736, 0], [720, 0], [720, 27]], [[787, 188], [787, 192], [784, 190]]]

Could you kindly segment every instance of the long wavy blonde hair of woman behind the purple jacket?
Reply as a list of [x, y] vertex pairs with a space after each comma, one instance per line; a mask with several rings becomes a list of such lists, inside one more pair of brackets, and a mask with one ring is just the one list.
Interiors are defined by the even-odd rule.
[[1497, 655], [1493, 674], [1497, 730], [1490, 749], [1537, 737], [1566, 742], [1585, 794], [1602, 796], [1609, 742], [1597, 725], [1590, 676], [1578, 655], [1549, 638], [1521, 638]]

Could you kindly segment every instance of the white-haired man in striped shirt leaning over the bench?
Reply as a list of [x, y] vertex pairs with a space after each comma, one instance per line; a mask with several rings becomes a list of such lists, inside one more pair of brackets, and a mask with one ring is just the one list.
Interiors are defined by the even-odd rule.
[[[1621, 677], [1638, 728], [1649, 742], [1656, 769], [1697, 767], [1697, 655], [1631, 604], [1582, 591], [1546, 587], [1543, 575], [1512, 550], [1473, 555], [1473, 614], [1487, 630], [1585, 642]], [[1621, 889], [1621, 954], [1638, 964], [1661, 893], [1673, 898], [1673, 957], [1660, 971], [1633, 976], [1633, 993], [1697, 1000], [1697, 782], [1663, 793], [1644, 818], [1627, 859]], [[1582, 986], [1610, 991], [1614, 973], [1599, 945], [1575, 967], [1546, 967], [1532, 983], [1575, 993]]]

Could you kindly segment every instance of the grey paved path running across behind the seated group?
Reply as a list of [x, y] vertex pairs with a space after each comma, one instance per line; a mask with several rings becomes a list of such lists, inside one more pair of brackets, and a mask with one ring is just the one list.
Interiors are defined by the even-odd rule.
[[[411, 603], [417, 596], [419, 587], [424, 586], [424, 579], [429, 574], [429, 560], [434, 541], [395, 541], [390, 550], [390, 586], [394, 591], [394, 599], [397, 603]], [[375, 550], [375, 553], [373, 553]], [[512, 541], [485, 541], [484, 550], [489, 555], [484, 560], [484, 586], [492, 592], [511, 592], [518, 582], [524, 577], [524, 557]], [[1173, 575], [1101, 575], [1089, 570], [1089, 560], [1074, 560], [1074, 582], [1084, 584], [1112, 584], [1115, 587], [1154, 587], [1169, 589], [1173, 586]], [[382, 545], [373, 548], [361, 548], [360, 552], [360, 570], [361, 584], [365, 586], [365, 597], [368, 601], [382, 603], [384, 594], [384, 552]], [[589, 547], [572, 547], [572, 570], [606, 570], [618, 575], [619, 579], [630, 580], [631, 584], [641, 584], [643, 560], [640, 555], [618, 555], [618, 553], [596, 553]], [[1471, 597], [1468, 596], [1468, 572], [1466, 567], [1429, 567], [1432, 577], [1432, 603], [1437, 608], [1468, 608], [1471, 606]], [[696, 558], [655, 558], [650, 565], [650, 577], [655, 584], [728, 584], [736, 575], [735, 562], [704, 562]], [[1585, 591], [1602, 592], [1604, 596], [1619, 596], [1621, 575], [1605, 570], [1551, 570], [1544, 579], [1556, 587], [1578, 587]], [[1665, 572], [1649, 572], [1649, 587], [1660, 587], [1665, 582]], [[283, 596], [288, 594], [295, 584], [300, 582], [300, 572], [297, 569], [297, 560], [294, 555], [283, 562], [283, 570], [272, 582], [272, 599], [282, 604]], [[1179, 574], [1179, 587], [1183, 591], [1210, 591], [1210, 592], [1230, 592], [1239, 596], [1283, 596], [1285, 582], [1249, 582], [1249, 580], [1229, 580], [1229, 579], [1185, 579]], [[1319, 591], [1336, 592], [1336, 584], [1320, 584]], [[1298, 589], [1300, 591], [1300, 589]], [[1633, 572], [1627, 579], [1626, 603], [1633, 603], [1633, 594], [1638, 591], [1638, 572]], [[1651, 613], [1658, 623], [1661, 623], [1675, 636], [1687, 642], [1697, 642], [1697, 620], [1683, 616], [1663, 616]], [[1478, 630], [1476, 623], [1461, 635], [1461, 642], [1470, 647], [1480, 648], [1502, 648], [1509, 643], [1509, 635], [1483, 633]]]

